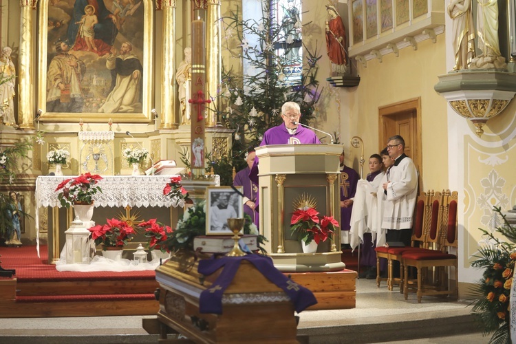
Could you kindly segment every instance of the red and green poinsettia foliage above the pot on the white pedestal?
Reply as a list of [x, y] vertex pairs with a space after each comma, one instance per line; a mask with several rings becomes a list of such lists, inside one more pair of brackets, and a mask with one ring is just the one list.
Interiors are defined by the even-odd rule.
[[61, 191], [57, 198], [61, 202], [61, 206], [68, 208], [70, 204], [93, 204], [93, 195], [100, 192], [100, 186], [96, 186], [100, 175], [87, 172], [75, 178], [68, 178], [59, 183], [56, 191]]

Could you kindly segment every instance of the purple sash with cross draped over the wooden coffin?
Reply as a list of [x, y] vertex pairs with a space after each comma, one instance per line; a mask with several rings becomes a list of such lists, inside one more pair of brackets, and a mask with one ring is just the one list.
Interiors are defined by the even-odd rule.
[[290, 301], [294, 303], [296, 312], [301, 312], [311, 305], [315, 305], [317, 300], [314, 294], [307, 288], [299, 286], [291, 279], [283, 275], [272, 264], [270, 257], [262, 255], [246, 255], [244, 257], [222, 257], [215, 259], [204, 259], [199, 261], [199, 268], [197, 271], [202, 275], [211, 275], [213, 272], [219, 270], [224, 266], [217, 280], [213, 282], [210, 289], [201, 292], [199, 299], [199, 311], [201, 313], [215, 313], [222, 314], [222, 296], [224, 290], [228, 288], [233, 277], [237, 273], [240, 262], [249, 261], [261, 275], [267, 277], [269, 281], [275, 283], [276, 286], [283, 289], [283, 291], [290, 297]]

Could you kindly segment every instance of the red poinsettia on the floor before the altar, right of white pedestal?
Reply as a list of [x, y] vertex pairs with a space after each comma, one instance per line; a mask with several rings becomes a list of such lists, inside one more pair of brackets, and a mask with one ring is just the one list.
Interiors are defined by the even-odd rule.
[[106, 219], [107, 224], [88, 228], [96, 245], [107, 247], [124, 246], [133, 239], [134, 229], [119, 219]]

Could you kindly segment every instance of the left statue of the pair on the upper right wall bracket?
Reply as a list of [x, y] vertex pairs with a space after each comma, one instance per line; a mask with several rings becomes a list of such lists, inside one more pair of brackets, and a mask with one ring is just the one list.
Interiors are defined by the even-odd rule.
[[475, 27], [471, 0], [451, 0], [448, 14], [453, 21], [453, 70], [467, 69], [475, 57]]

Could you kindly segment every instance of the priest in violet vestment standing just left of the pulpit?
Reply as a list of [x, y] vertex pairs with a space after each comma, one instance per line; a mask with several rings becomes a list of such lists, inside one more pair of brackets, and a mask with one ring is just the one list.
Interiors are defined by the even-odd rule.
[[233, 180], [233, 186], [242, 186], [244, 188], [244, 213], [249, 215], [257, 228], [259, 228], [259, 217], [258, 217], [258, 184], [252, 182], [249, 178], [252, 164], [255, 162], [256, 152], [255, 149], [250, 149], [246, 156], [246, 162], [248, 166], [245, 169], [240, 170], [235, 175]]

